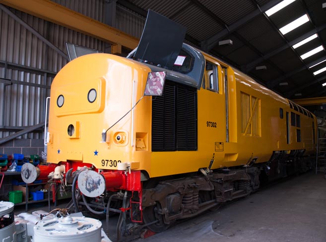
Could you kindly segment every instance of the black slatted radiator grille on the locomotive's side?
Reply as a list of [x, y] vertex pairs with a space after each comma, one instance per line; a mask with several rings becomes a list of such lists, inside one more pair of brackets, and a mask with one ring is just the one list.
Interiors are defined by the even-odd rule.
[[152, 101], [152, 151], [197, 149], [197, 90], [166, 81]]

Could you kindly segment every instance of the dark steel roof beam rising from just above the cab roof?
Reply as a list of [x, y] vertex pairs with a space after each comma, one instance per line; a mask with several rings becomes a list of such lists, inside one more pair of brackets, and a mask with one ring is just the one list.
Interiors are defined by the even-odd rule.
[[234, 31], [236, 31], [238, 28], [240, 28], [244, 24], [248, 23], [250, 20], [254, 19], [258, 15], [260, 15], [262, 12], [267, 11], [269, 8], [273, 7], [274, 5], [276, 5], [279, 2], [281, 2], [281, 0], [271, 0], [268, 3], [266, 3], [265, 5], [258, 7], [256, 10], [254, 10], [253, 12], [244, 16], [243, 18], [236, 21], [235, 23], [233, 23], [229, 26], [226, 26], [226, 28], [223, 29], [222, 31], [209, 37], [207, 40], [202, 41], [201, 48], [206, 52], [210, 51], [217, 44], [218, 40], [231, 34]]

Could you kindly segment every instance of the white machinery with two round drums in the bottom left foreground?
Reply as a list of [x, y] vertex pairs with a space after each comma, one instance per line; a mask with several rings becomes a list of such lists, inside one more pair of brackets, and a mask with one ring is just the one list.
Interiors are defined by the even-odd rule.
[[15, 219], [13, 208], [0, 201], [0, 242], [111, 242], [99, 220], [78, 215], [40, 220], [27, 213]]

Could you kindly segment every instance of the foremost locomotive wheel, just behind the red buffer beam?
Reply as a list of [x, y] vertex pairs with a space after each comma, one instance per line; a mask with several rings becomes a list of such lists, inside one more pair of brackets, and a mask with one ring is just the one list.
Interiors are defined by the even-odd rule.
[[148, 225], [147, 228], [155, 233], [160, 233], [169, 228], [170, 225], [165, 224], [163, 220], [163, 215], [158, 214], [158, 211], [161, 210], [161, 205], [157, 203], [157, 206], [146, 207], [143, 210], [143, 220], [145, 224], [151, 223], [155, 220], [158, 220], [157, 223]]

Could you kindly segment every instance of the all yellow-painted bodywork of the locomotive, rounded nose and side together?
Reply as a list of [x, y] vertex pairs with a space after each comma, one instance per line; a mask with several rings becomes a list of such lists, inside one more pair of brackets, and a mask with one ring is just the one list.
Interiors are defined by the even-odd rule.
[[[146, 171], [149, 177], [162, 177], [196, 172], [199, 168], [208, 167], [213, 154], [215, 161], [211, 168], [218, 169], [246, 165], [252, 158], [257, 158], [257, 163], [267, 162], [273, 151], [289, 153], [291, 150], [306, 149], [309, 153], [314, 150], [311, 123], [316, 121], [313, 118], [291, 110], [286, 99], [250, 77], [234, 72], [231, 67], [220, 64], [208, 55], [204, 56], [207, 61], [219, 66], [222, 64], [226, 68], [220, 68], [223, 81], [219, 83], [219, 93], [204, 88], [197, 90], [197, 150], [151, 152], [152, 98], [148, 96], [134, 108], [133, 128], [132, 115], [129, 113], [108, 131], [107, 142], [100, 142], [103, 129], [123, 117], [142, 97], [147, 74], [151, 70], [133, 60], [95, 54], [71, 61], [53, 82], [49, 161], [59, 163], [72, 160], [92, 164], [97, 169], [112, 170], [117, 169], [117, 163], [131, 162], [132, 170]], [[229, 142], [226, 142], [225, 71], [228, 83]], [[92, 88], [96, 89], [97, 98], [95, 102], [89, 103], [87, 93]], [[56, 102], [60, 95], [65, 98], [61, 108]], [[241, 125], [244, 125], [241, 95], [259, 99], [256, 135], [241, 132]], [[280, 108], [284, 112], [283, 119], [279, 117]], [[287, 144], [285, 116], [291, 112], [301, 117], [302, 141], [296, 142], [297, 127], [290, 125], [290, 143]], [[217, 127], [207, 127], [207, 121], [216, 122]], [[70, 124], [74, 126], [72, 136], [68, 134]], [[124, 143], [116, 140], [119, 133], [126, 134]]]

